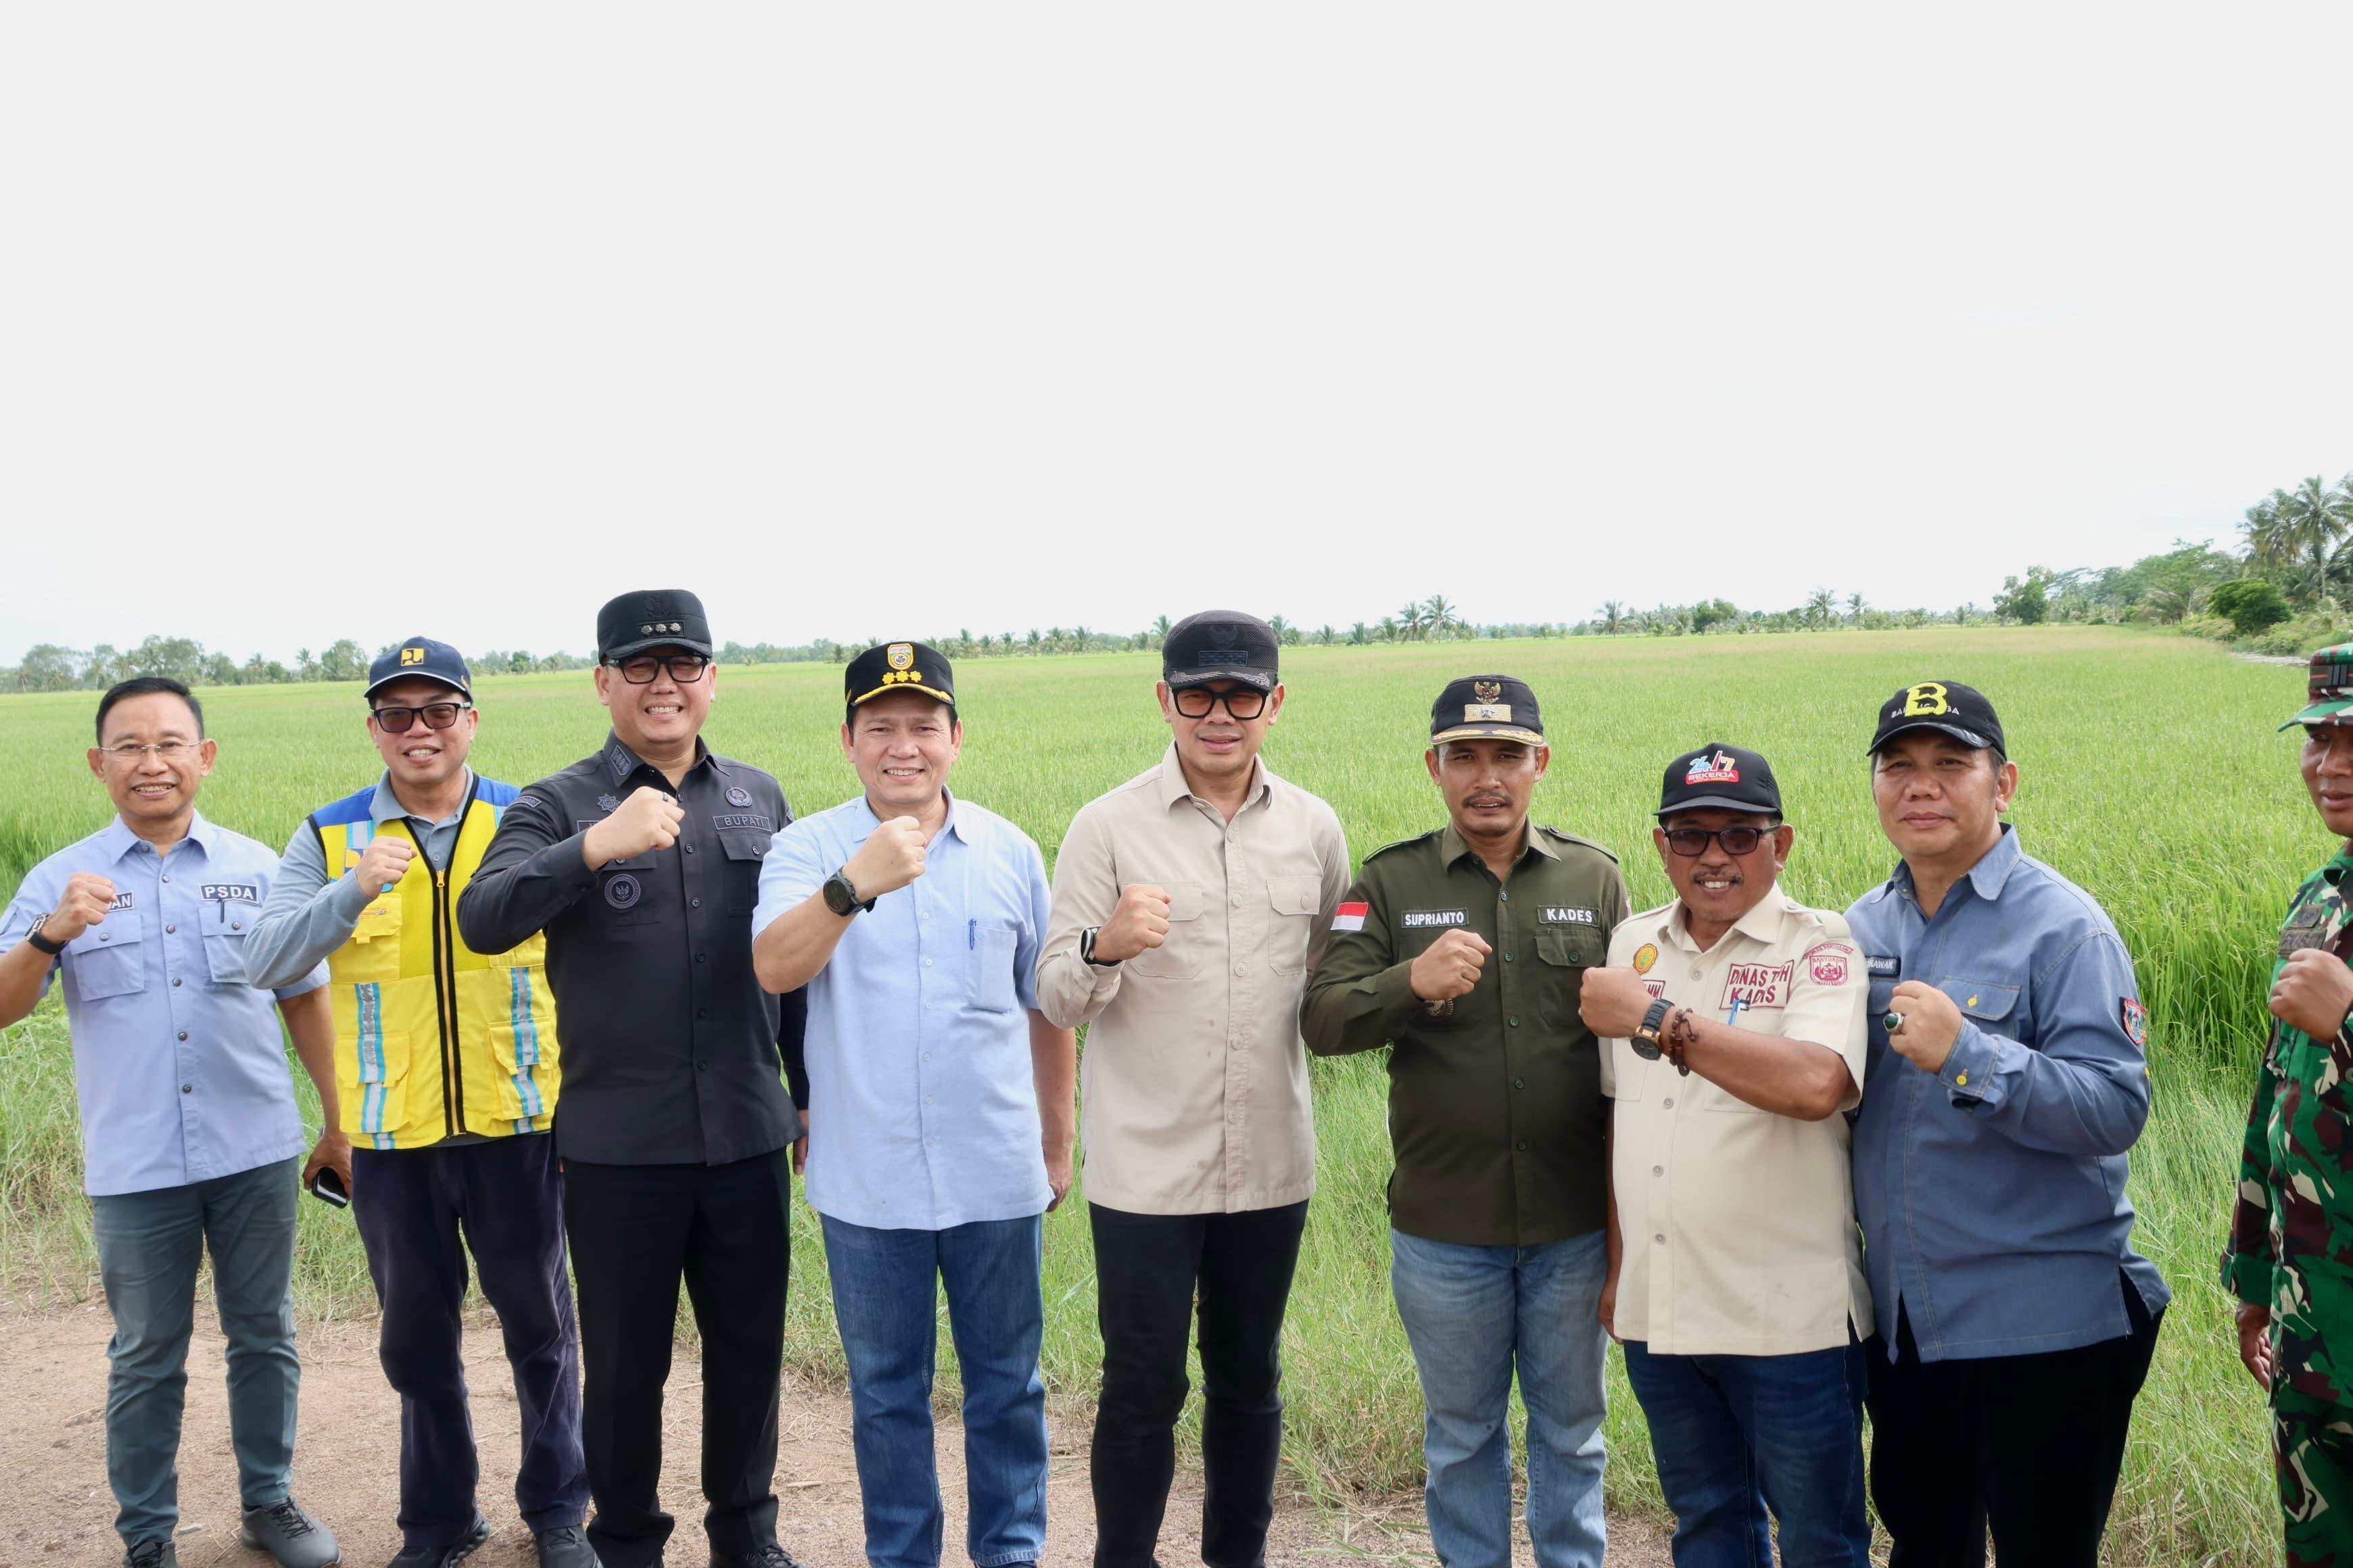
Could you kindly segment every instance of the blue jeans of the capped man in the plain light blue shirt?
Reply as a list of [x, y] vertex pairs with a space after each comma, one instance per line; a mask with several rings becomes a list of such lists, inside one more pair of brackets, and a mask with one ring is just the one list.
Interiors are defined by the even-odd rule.
[[849, 1359], [852, 1446], [873, 1568], [936, 1568], [944, 1514], [932, 1458], [934, 1276], [965, 1375], [965, 1549], [974, 1568], [1045, 1552], [1045, 1298], [1040, 1215], [951, 1229], [871, 1229], [833, 1215], [826, 1267]]

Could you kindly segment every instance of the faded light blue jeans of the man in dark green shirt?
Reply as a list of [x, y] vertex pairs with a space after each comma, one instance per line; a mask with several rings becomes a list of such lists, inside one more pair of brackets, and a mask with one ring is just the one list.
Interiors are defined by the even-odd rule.
[[1445, 1568], [1511, 1566], [1511, 1375], [1527, 1406], [1539, 1568], [1602, 1563], [1602, 1232], [1459, 1246], [1388, 1232], [1388, 1286], [1421, 1373], [1424, 1507]]

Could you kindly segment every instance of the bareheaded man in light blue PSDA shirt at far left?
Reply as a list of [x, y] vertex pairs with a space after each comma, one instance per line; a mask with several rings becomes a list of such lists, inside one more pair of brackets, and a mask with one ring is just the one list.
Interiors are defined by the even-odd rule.
[[327, 971], [271, 994], [247, 980], [245, 938], [278, 856], [207, 823], [205, 715], [174, 679], [99, 698], [89, 771], [115, 820], [31, 870], [0, 914], [0, 1027], [64, 973], [82, 1110], [106, 1347], [106, 1479], [132, 1568], [169, 1568], [179, 1526], [179, 1418], [195, 1272], [228, 1338], [228, 1432], [240, 1537], [282, 1568], [325, 1568], [334, 1537], [289, 1495], [294, 1469], [294, 1171], [306, 1147], [282, 1016], [334, 1126]]

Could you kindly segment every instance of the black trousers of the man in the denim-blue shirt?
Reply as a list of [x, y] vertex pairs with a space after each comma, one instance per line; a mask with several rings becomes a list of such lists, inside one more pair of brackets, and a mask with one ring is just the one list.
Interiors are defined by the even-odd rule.
[[2097, 1568], [2132, 1401], [2158, 1347], [2129, 1279], [2132, 1331], [2038, 1356], [1920, 1361], [1897, 1312], [1897, 1359], [1871, 1340], [1871, 1502], [1889, 1568]]

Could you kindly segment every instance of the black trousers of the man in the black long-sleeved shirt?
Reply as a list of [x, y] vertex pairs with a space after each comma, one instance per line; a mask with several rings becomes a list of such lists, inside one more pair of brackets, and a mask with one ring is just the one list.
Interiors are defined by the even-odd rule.
[[678, 1281], [704, 1338], [704, 1530], [713, 1559], [776, 1540], [776, 1392], [793, 1166], [786, 1150], [725, 1166], [565, 1161], [565, 1227], [581, 1298], [584, 1436], [605, 1568], [649, 1568], [661, 1512], [661, 1385]]

